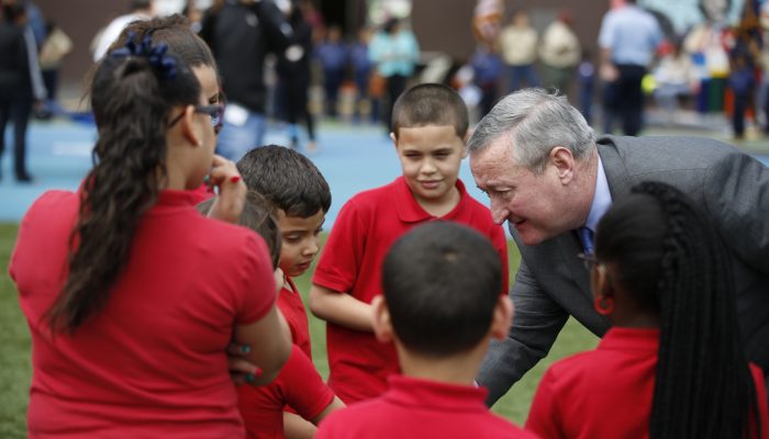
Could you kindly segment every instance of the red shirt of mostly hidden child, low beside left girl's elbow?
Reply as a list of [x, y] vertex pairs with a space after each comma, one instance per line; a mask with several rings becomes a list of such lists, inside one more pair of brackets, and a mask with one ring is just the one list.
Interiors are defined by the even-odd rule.
[[252, 439], [283, 438], [283, 405], [290, 405], [311, 420], [334, 401], [334, 392], [323, 382], [312, 361], [297, 345], [280, 374], [269, 385], [237, 387], [241, 415]]

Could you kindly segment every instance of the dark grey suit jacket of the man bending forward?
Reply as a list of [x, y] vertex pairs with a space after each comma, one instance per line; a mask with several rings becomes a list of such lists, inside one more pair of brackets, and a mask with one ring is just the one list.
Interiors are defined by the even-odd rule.
[[[769, 169], [734, 147], [694, 137], [598, 140], [612, 200], [643, 181], [677, 187], [718, 227], [732, 252], [740, 329], [748, 358], [769, 371]], [[495, 402], [553, 346], [569, 315], [601, 337], [609, 328], [592, 307], [589, 273], [576, 258], [573, 230], [536, 246], [521, 243], [510, 295], [515, 315], [506, 340], [494, 342], [478, 381]]]

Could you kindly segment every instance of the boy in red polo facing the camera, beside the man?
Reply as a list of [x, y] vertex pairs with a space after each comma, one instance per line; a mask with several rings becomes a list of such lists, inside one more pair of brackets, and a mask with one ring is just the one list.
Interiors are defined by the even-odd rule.
[[508, 293], [504, 232], [457, 178], [466, 156], [465, 102], [448, 87], [420, 85], [398, 99], [392, 120], [390, 137], [403, 175], [342, 207], [310, 290], [311, 311], [327, 323], [328, 385], [347, 404], [379, 396], [387, 378], [399, 372], [394, 347], [377, 342], [371, 333], [370, 304], [381, 293], [384, 255], [405, 232], [435, 219], [477, 229], [499, 254], [500, 293]]

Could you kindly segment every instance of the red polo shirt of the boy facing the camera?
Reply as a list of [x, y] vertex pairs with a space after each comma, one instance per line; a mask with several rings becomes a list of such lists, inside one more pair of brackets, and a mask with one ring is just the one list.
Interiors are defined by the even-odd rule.
[[[420, 206], [402, 177], [361, 192], [339, 212], [328, 235], [312, 282], [371, 303], [381, 294], [381, 266], [390, 246], [412, 227], [435, 219], [454, 221], [489, 237], [502, 262], [502, 293], [508, 293], [508, 245], [504, 230], [488, 207], [473, 200], [457, 180], [460, 200], [442, 218]], [[399, 371], [392, 344], [371, 333], [326, 324], [328, 385], [347, 404], [371, 398], [387, 390], [387, 378]]]

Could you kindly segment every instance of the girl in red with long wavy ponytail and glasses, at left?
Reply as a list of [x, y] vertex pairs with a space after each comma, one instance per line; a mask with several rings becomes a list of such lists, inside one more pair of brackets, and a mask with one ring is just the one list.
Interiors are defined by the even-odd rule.
[[[271, 381], [290, 352], [246, 188], [213, 154], [221, 105], [165, 44], [129, 37], [91, 85], [98, 140], [77, 192], [48, 191], [11, 257], [33, 340], [30, 437], [245, 437], [227, 373], [234, 338]], [[215, 77], [212, 67], [209, 75]]]

